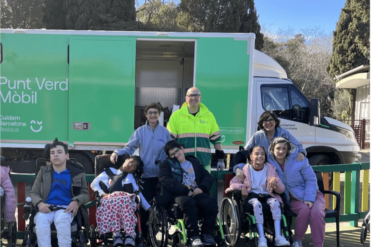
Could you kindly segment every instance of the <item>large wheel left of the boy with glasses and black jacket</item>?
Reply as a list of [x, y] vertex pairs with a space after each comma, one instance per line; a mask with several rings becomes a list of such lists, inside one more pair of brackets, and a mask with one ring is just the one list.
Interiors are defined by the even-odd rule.
[[168, 243], [168, 222], [164, 207], [156, 207], [154, 219], [148, 226], [148, 235], [152, 247], [166, 247]]

